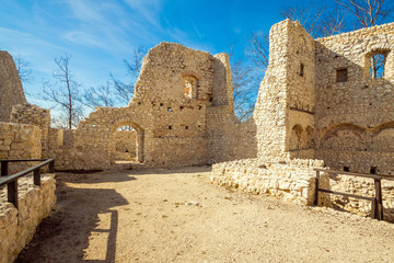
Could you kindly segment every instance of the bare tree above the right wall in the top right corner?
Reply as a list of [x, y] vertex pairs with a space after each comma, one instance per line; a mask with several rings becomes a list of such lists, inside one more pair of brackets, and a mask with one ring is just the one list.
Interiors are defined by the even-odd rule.
[[[384, 23], [394, 11], [393, 2], [384, 0], [335, 0], [341, 9], [352, 15], [359, 27]], [[357, 26], [355, 26], [357, 28]]]

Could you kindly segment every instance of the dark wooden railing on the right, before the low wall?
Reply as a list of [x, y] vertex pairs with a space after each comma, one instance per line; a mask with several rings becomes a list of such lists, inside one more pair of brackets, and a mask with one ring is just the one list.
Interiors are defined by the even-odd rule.
[[[352, 198], [359, 198], [359, 199], [366, 199], [371, 201], [371, 217], [373, 219], [383, 220], [383, 197], [382, 197], [382, 180], [390, 180], [394, 181], [394, 176], [386, 175], [386, 174], [368, 174], [368, 173], [352, 173], [352, 172], [343, 172], [343, 171], [334, 171], [334, 170], [324, 170], [324, 169], [315, 169], [316, 171], [316, 186], [315, 186], [315, 199], [314, 205], [318, 204], [318, 192], [328, 193], [328, 194], [336, 194], [336, 195], [343, 195], [347, 197]], [[373, 197], [370, 196], [361, 196], [361, 195], [354, 195], [349, 193], [341, 193], [325, 188], [318, 187], [320, 182], [320, 173], [326, 172], [329, 174], [340, 174], [340, 175], [349, 175], [349, 176], [358, 176], [358, 178], [368, 178], [373, 179], [374, 181], [374, 190], [375, 194]]]

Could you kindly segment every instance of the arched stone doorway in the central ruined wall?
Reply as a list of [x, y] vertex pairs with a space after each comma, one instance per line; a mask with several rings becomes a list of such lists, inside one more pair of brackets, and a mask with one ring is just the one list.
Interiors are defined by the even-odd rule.
[[143, 129], [135, 123], [121, 122], [111, 134], [114, 162], [143, 162]]

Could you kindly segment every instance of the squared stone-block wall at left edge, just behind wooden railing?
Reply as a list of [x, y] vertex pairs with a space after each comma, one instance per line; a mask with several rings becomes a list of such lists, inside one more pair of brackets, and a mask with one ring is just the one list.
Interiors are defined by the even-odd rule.
[[[0, 159], [42, 158], [42, 132], [25, 124], [0, 123]], [[32, 162], [9, 164], [9, 174], [20, 172]]]

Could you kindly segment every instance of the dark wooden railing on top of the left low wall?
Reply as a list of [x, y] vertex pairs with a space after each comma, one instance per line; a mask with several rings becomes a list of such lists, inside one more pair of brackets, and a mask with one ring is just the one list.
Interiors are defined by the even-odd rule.
[[[10, 162], [36, 162], [40, 163], [25, 169], [22, 172], [9, 175], [9, 163]], [[1, 163], [1, 176], [0, 176], [0, 188], [7, 185], [8, 202], [12, 203], [18, 209], [18, 179], [25, 176], [33, 172], [33, 181], [35, 185], [40, 186], [40, 168], [49, 164], [49, 173], [55, 172], [55, 160], [54, 159], [24, 159], [24, 160], [0, 160]]]

